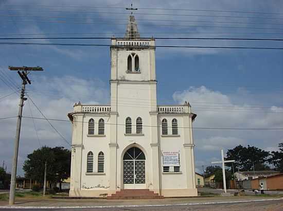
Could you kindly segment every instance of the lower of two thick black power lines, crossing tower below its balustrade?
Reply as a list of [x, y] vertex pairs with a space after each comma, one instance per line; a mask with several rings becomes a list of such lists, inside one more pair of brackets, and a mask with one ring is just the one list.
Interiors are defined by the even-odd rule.
[[113, 46], [107, 44], [67, 44], [67, 43], [0, 43], [0, 45], [39, 45], [39, 46], [97, 46], [97, 47], [120, 47], [120, 48], [213, 48], [213, 49], [260, 49], [260, 50], [283, 50], [273, 47], [237, 47], [237, 46]]

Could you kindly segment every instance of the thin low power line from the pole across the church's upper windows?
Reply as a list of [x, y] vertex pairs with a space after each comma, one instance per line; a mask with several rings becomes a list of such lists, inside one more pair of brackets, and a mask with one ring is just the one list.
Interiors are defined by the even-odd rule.
[[[45, 118], [40, 118], [40, 117], [28, 117], [28, 116], [23, 116], [23, 118], [34, 118], [34, 119], [42, 119], [46, 120]], [[65, 120], [65, 119], [48, 119], [51, 121], [63, 121], [63, 122], [72, 122], [70, 120]], [[88, 123], [88, 121], [73, 121], [73, 122], [81, 122], [81, 123]], [[126, 124], [114, 124], [114, 123], [104, 123], [108, 125], [120, 125], [120, 126], [126, 126]], [[132, 126], [136, 126], [132, 124]], [[145, 127], [154, 127], [154, 128], [162, 128], [162, 125], [144, 125]], [[172, 128], [172, 126], [168, 125], [168, 128]], [[210, 127], [187, 127], [187, 126], [178, 126], [178, 128], [188, 128], [188, 129], [201, 129], [201, 130], [264, 130], [264, 131], [269, 131], [269, 130], [283, 130], [283, 128], [210, 128]]]

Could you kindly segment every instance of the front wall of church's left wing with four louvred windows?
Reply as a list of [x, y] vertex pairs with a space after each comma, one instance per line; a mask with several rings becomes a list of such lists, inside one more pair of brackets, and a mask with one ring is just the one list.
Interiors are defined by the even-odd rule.
[[[108, 115], [85, 115], [83, 118], [82, 189], [101, 189], [109, 186]], [[94, 122], [94, 123], [93, 123]]]

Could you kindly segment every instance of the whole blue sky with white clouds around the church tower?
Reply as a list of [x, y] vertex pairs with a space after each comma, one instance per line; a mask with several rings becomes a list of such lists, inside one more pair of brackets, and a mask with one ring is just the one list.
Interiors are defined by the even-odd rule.
[[[44, 2], [32, 0], [2, 1], [0, 3], [0, 37], [31, 36], [19, 34], [38, 34], [32, 35], [34, 37], [123, 36], [129, 13], [125, 9], [95, 7], [128, 7], [130, 4], [131, 1], [118, 0], [80, 1], [80, 5], [77, 1], [62, 0]], [[141, 36], [281, 38], [283, 34], [282, 1], [158, 0], [154, 2], [133, 1], [133, 4], [138, 8], [262, 12], [235, 13], [140, 9], [137, 13], [151, 13], [151, 15], [135, 15]], [[47, 7], [48, 5], [50, 7]], [[51, 12], [51, 10], [57, 12]], [[115, 14], [114, 12], [125, 14]], [[152, 15], [152, 13], [175, 15]], [[181, 16], [182, 14], [246, 16], [249, 18]], [[63, 18], [54, 18], [54, 16], [63, 16]], [[157, 21], [156, 19], [166, 21]], [[177, 22], [176, 20], [182, 21]], [[80, 23], [58, 23], [60, 21]], [[212, 23], [204, 23], [204, 21]], [[92, 24], [82, 24], [86, 22]], [[215, 22], [240, 22], [242, 24]], [[178, 27], [178, 25], [185, 25], [186, 27]], [[144, 34], [145, 32], [147, 33]], [[54, 35], [47, 35], [48, 33], [54, 33]], [[56, 33], [83, 34], [56, 35]], [[36, 42], [110, 44], [110, 40], [36, 40]], [[283, 41], [157, 40], [156, 45], [283, 47]], [[66, 119], [66, 113], [72, 111], [73, 104], [79, 100], [84, 103], [109, 102], [109, 47], [1, 45], [0, 58], [0, 69], [4, 72], [2, 77], [5, 80], [7, 76], [12, 78], [17, 86], [20, 85], [20, 79], [15, 72], [7, 70], [8, 65], [41, 66], [44, 68], [44, 72], [30, 75], [33, 83], [27, 89], [29, 96], [49, 118]], [[158, 103], [174, 104], [188, 100], [194, 113], [198, 114], [194, 126], [283, 128], [282, 58], [283, 50], [157, 48]], [[11, 92], [13, 90], [0, 81], [0, 97]], [[19, 99], [15, 94], [1, 99], [0, 117], [15, 116], [18, 101]], [[33, 116], [40, 116], [37, 110], [32, 105], [30, 106]], [[24, 107], [24, 114], [31, 115], [27, 102]], [[40, 143], [38, 143], [34, 132], [32, 120], [24, 119], [23, 121], [19, 174], [23, 174], [21, 164], [26, 159], [26, 155], [31, 153], [33, 149], [44, 144], [67, 146], [54, 133], [48, 123], [41, 120], [35, 120], [35, 123]], [[70, 125], [68, 123], [52, 123], [70, 140]], [[0, 146], [2, 149], [7, 149], [0, 154], [0, 161], [5, 160], [8, 164], [8, 170], [10, 170], [15, 119], [1, 120], [0, 132]], [[238, 144], [250, 144], [266, 150], [275, 150], [277, 144], [282, 140], [283, 131], [194, 130], [197, 171], [201, 170], [201, 165], [209, 165], [211, 160], [220, 159], [221, 148], [227, 150]]]

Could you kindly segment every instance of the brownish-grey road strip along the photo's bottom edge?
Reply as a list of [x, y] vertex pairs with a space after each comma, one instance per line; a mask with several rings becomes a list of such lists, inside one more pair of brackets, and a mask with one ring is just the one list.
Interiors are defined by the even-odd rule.
[[[1, 209], [7, 211], [8, 209]], [[14, 211], [26, 211], [27, 209], [12, 209]], [[30, 210], [30, 209], [29, 209]], [[32, 209], [34, 211], [47, 211], [50, 209]], [[242, 202], [242, 203], [223, 203], [223, 204], [207, 204], [207, 205], [172, 205], [172, 206], [139, 206], [139, 207], [110, 207], [110, 208], [55, 208], [51, 210], [74, 210], [74, 211], [183, 211], [183, 210], [256, 210], [256, 211], [281, 211], [283, 210], [283, 200], [278, 201], [260, 201], [260, 202]]]

